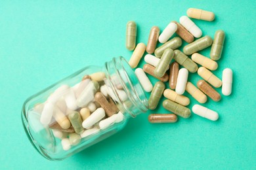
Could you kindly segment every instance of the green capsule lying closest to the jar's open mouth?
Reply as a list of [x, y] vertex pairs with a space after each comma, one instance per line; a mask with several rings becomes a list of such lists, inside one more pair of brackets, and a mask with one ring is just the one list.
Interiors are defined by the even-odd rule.
[[161, 95], [163, 95], [163, 90], [165, 90], [165, 84], [163, 84], [163, 82], [156, 82], [150, 94], [150, 98], [148, 99], [148, 105], [150, 110], [154, 110], [158, 106]]

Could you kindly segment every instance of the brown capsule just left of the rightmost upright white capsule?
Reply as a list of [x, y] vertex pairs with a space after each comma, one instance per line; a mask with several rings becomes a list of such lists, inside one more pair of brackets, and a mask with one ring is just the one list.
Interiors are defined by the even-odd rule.
[[197, 86], [203, 93], [213, 99], [213, 101], [219, 101], [221, 99], [221, 95], [207, 82], [205, 82], [205, 80], [199, 80]]

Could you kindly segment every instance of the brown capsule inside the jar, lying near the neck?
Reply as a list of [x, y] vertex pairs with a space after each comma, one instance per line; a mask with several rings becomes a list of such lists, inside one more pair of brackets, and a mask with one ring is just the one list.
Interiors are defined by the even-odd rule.
[[108, 116], [116, 114], [119, 110], [114, 102], [108, 102], [103, 93], [97, 92], [95, 94], [95, 101], [105, 110]]

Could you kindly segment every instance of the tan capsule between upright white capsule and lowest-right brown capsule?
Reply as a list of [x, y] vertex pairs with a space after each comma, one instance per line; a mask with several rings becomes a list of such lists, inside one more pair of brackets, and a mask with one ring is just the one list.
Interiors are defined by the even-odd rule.
[[186, 83], [186, 92], [190, 93], [199, 103], [205, 103], [207, 101], [207, 96], [191, 82]]

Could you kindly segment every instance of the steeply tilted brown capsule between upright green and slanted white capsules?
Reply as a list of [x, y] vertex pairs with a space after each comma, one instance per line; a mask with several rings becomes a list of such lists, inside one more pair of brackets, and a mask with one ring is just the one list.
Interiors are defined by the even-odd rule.
[[150, 30], [150, 35], [148, 37], [148, 44], [146, 45], [146, 52], [152, 54], [156, 49], [156, 44], [158, 43], [160, 29], [157, 26], [154, 26]]

